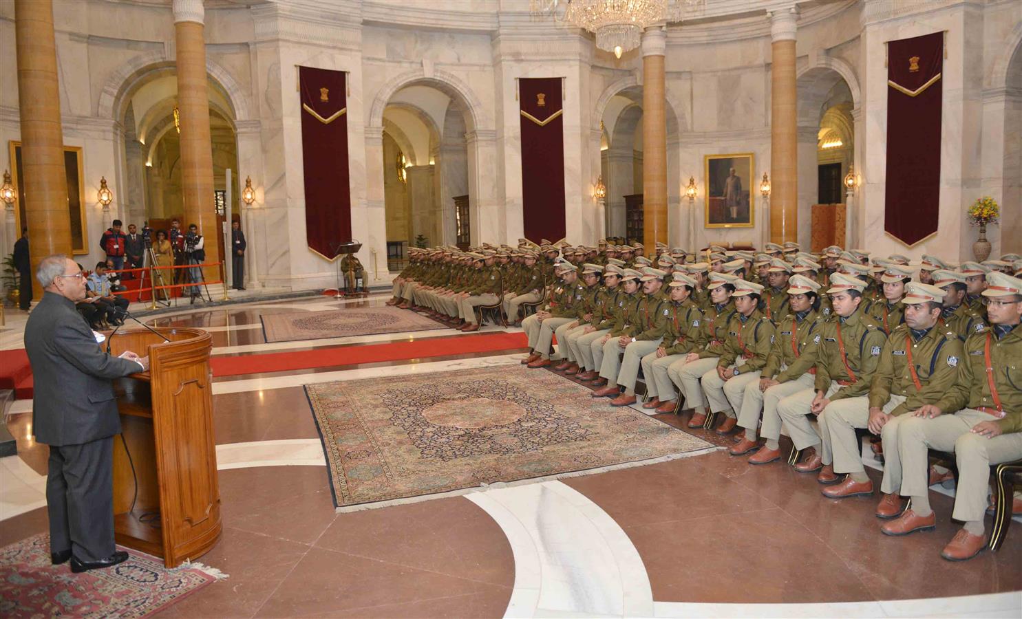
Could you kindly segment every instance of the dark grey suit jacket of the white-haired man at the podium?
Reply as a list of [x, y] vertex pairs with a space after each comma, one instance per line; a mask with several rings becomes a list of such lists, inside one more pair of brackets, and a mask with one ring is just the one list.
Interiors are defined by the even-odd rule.
[[121, 432], [111, 379], [141, 372], [141, 366], [106, 354], [75, 303], [43, 293], [25, 327], [25, 348], [36, 384], [36, 440], [75, 445]]

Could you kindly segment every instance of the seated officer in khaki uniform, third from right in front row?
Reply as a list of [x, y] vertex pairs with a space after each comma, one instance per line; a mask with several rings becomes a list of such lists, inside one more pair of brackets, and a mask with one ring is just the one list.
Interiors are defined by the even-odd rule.
[[[827, 431], [827, 406], [870, 390], [870, 380], [886, 339], [883, 330], [864, 312], [865, 289], [862, 280], [834, 274], [827, 293], [831, 295], [836, 318], [824, 323], [821, 329], [814, 389], [789, 395], [777, 406], [795, 448], [811, 448], [806, 459], [795, 465], [795, 470], [819, 471], [817, 480], [821, 483], [837, 481]], [[818, 416], [819, 433], [809, 424], [810, 414]]]

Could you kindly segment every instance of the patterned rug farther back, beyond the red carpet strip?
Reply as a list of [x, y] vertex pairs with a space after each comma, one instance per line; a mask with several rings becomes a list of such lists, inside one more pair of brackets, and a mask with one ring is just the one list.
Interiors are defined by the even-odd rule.
[[263, 335], [268, 343], [290, 342], [299, 339], [351, 337], [376, 333], [425, 331], [447, 327], [431, 318], [411, 310], [358, 307], [328, 310], [326, 312], [296, 312], [261, 316]]

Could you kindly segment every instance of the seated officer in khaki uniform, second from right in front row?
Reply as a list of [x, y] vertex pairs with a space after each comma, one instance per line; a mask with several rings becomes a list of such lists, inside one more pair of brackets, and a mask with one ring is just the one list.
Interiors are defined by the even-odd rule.
[[[888, 269], [895, 267], [889, 265]], [[887, 283], [887, 285], [890, 285]], [[844, 481], [823, 489], [825, 496], [873, 494], [873, 481], [866, 475], [860, 456], [855, 428], [869, 428], [880, 435], [884, 445], [883, 496], [877, 507], [879, 518], [901, 513], [897, 497], [901, 483], [901, 463], [897, 454], [898, 427], [904, 413], [940, 399], [958, 376], [962, 341], [937, 325], [943, 291], [927, 284], [909, 284], [904, 296], [904, 319], [891, 331], [880, 352], [868, 395], [846, 397], [827, 407], [834, 473], [847, 474]]]

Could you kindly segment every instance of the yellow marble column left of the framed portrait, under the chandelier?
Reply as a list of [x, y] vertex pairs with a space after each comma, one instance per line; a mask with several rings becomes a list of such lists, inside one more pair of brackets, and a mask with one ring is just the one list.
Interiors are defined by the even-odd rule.
[[651, 27], [643, 33], [643, 244], [648, 252], [653, 251], [656, 242], [667, 242], [667, 115], [663, 62], [666, 48], [667, 35], [660, 27]]

